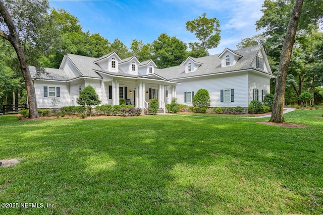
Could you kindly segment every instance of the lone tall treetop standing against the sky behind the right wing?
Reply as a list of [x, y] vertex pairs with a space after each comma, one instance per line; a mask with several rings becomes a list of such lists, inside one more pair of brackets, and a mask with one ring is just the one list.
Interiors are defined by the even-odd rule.
[[186, 22], [186, 30], [191, 33], [195, 32], [196, 38], [200, 43], [189, 43], [193, 50], [200, 50], [200, 52], [207, 54], [210, 48], [216, 48], [220, 43], [220, 22], [217, 18], [206, 18], [206, 14], [198, 17], [195, 20]]

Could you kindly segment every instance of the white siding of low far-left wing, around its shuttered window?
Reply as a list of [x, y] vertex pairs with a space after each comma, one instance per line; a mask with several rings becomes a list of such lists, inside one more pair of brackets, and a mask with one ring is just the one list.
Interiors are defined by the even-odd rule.
[[[52, 99], [58, 98], [60, 102], [56, 107], [64, 107], [71, 105], [70, 103], [70, 84], [64, 82], [47, 82], [47, 81], [34, 81], [34, 87], [36, 92], [36, 100], [38, 108], [53, 108]], [[44, 87], [47, 87], [47, 97], [44, 97]], [[49, 96], [49, 87], [60, 88], [60, 97]], [[56, 95], [56, 93], [55, 93]]]

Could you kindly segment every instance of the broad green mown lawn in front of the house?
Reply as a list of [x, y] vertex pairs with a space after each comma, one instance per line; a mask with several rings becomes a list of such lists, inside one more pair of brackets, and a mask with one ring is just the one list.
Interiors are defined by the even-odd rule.
[[[264, 119], [0, 116], [0, 214], [323, 213], [322, 110]], [[19, 205], [20, 206], [20, 205]]]

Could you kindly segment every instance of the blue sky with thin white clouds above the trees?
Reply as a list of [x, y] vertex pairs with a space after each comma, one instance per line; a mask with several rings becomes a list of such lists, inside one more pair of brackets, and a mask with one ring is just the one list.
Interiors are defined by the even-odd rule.
[[262, 0], [97, 0], [49, 1], [50, 6], [77, 17], [83, 31], [99, 33], [113, 42], [120, 39], [128, 48], [133, 39], [145, 44], [156, 40], [161, 33], [176, 36], [186, 42], [196, 42], [193, 33], [185, 29], [186, 22], [203, 13], [220, 21], [221, 41], [210, 54], [221, 53], [226, 47], [237, 49], [241, 38], [252, 37], [255, 22], [262, 16]]

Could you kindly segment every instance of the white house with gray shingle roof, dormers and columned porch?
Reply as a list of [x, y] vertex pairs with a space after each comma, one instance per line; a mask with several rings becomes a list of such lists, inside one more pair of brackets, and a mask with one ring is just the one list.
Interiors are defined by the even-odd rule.
[[30, 66], [38, 108], [50, 108], [57, 97], [57, 107], [77, 105], [79, 92], [87, 85], [95, 88], [101, 104], [118, 105], [123, 98], [146, 108], [150, 99], [158, 98], [165, 110], [173, 97], [192, 106], [194, 93], [206, 89], [212, 107], [247, 107], [252, 100], [262, 101], [270, 92], [270, 79], [275, 78], [262, 45], [188, 57], [178, 66], [163, 69], [152, 60], [121, 59], [115, 52], [100, 58], [68, 54], [60, 68], [45, 71], [37, 76], [36, 68]]

